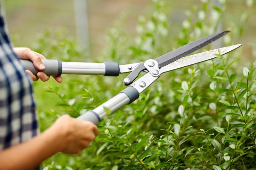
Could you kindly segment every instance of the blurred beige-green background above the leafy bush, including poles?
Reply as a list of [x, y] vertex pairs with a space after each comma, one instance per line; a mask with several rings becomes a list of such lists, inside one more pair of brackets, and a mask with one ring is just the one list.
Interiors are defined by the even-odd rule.
[[[186, 11], [200, 8], [207, 0], [171, 0], [169, 3], [169, 30], [173, 34], [181, 29]], [[221, 6], [226, 0], [209, 0]], [[221, 23], [229, 25], [241, 22], [241, 15], [247, 10], [246, 0], [227, 0], [226, 11]], [[252, 1], [253, 2], [253, 1]], [[256, 3], [251, 9], [256, 9]], [[138, 16], [150, 16], [153, 2], [150, 0], [2, 0], [8, 28], [16, 47], [33, 48], [38, 35], [45, 30], [65, 30], [67, 36], [74, 37], [89, 55], [97, 57], [107, 43], [106, 30], [120, 16], [126, 18], [127, 34], [135, 35]], [[244, 16], [246, 17], [246, 16]], [[220, 28], [221, 29], [221, 28]], [[243, 43], [245, 52], [251, 51], [248, 42], [255, 42], [256, 10], [252, 10], [245, 22], [243, 36], [237, 43]], [[47, 56], [46, 56], [47, 58]]]

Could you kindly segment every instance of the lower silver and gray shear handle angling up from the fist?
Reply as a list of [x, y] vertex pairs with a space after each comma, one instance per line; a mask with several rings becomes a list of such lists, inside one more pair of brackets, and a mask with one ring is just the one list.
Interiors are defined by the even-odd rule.
[[95, 109], [90, 110], [85, 114], [77, 117], [77, 119], [90, 121], [94, 124], [98, 124], [98, 122], [100, 122], [102, 118], [107, 114], [106, 110], [109, 110], [110, 113], [114, 113], [121, 107], [130, 104], [134, 100], [138, 99], [139, 95], [140, 93], [134, 87], [127, 87], [113, 98], [109, 99]]

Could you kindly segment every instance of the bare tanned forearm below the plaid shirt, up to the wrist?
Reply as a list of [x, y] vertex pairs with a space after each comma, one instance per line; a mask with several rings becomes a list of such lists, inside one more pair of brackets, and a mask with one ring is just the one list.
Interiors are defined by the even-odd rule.
[[46, 130], [27, 142], [0, 152], [0, 169], [32, 169], [43, 160], [60, 152], [58, 134]]

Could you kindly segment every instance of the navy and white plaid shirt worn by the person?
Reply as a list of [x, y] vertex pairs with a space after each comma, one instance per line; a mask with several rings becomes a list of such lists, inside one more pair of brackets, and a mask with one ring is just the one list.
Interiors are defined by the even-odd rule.
[[0, 150], [36, 136], [37, 122], [30, 78], [12, 50], [0, 14]]

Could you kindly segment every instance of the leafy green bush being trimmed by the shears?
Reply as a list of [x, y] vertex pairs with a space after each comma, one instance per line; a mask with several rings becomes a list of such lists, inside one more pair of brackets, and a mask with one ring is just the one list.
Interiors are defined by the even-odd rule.
[[[170, 31], [167, 1], [154, 0], [156, 8], [149, 19], [139, 16], [134, 39], [125, 33], [121, 16], [110, 28], [107, 47], [95, 59], [82, 59], [84, 51], [64, 33], [56, 33], [57, 41], [52, 41], [46, 32], [36, 51], [48, 58], [61, 55], [62, 61], [73, 62], [112, 60], [125, 64], [156, 58], [216, 32], [219, 21], [225, 19], [225, 1], [221, 1], [222, 8], [203, 2], [201, 8], [193, 6], [186, 11], [187, 18], [178, 33]], [[238, 39], [242, 34], [253, 1], [246, 2], [248, 10], [241, 22], [237, 25], [230, 21], [223, 26], [232, 31], [223, 38], [225, 46], [234, 44], [233, 37]], [[100, 134], [80, 155], [58, 153], [43, 166], [112, 170], [255, 167], [256, 63], [251, 63], [249, 69], [241, 67], [240, 58], [245, 57], [241, 50], [165, 73], [138, 100], [108, 115], [98, 126]], [[45, 88], [51, 93], [37, 93], [47, 96], [38, 99], [41, 130], [60, 115], [77, 117], [99, 106], [124, 89], [124, 77], [63, 75], [60, 86]], [[35, 83], [36, 92], [41, 87], [42, 83]], [[58, 104], [46, 111], [49, 106], [45, 108], [44, 102], [49, 106]]]

